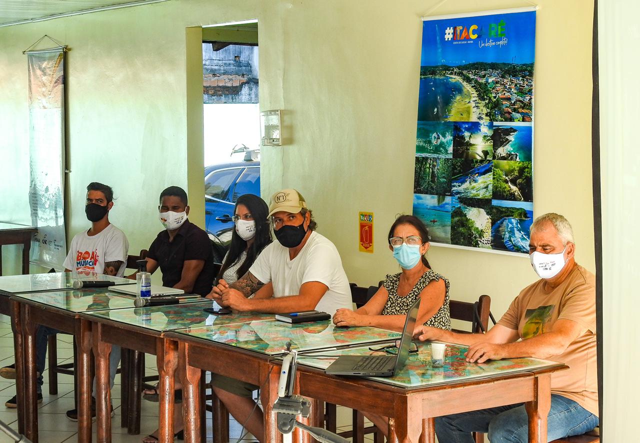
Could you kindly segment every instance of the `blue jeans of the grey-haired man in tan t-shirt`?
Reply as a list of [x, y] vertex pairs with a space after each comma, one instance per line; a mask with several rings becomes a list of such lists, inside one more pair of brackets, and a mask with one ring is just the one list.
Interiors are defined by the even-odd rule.
[[[440, 443], [474, 443], [472, 432], [488, 433], [491, 443], [527, 443], [529, 418], [524, 403], [436, 418]], [[566, 397], [552, 394], [547, 441], [580, 435], [598, 426], [598, 417]]]

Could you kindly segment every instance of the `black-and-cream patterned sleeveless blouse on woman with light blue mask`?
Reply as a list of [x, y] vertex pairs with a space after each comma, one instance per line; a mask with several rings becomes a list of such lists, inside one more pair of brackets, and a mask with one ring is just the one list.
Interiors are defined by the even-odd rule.
[[440, 309], [438, 309], [438, 311], [433, 314], [433, 317], [428, 319], [424, 325], [451, 330], [451, 314], [449, 314], [449, 280], [442, 277], [442, 275], [438, 274], [434, 270], [428, 270], [422, 274], [422, 277], [418, 279], [413, 289], [409, 291], [406, 296], [399, 296], [398, 283], [400, 282], [400, 275], [401, 272], [394, 275], [387, 274], [387, 277], [385, 277], [385, 282], [382, 286], [387, 289], [389, 298], [387, 298], [387, 303], [385, 303], [385, 307], [382, 309], [382, 315], [406, 315], [406, 313], [409, 312], [411, 305], [413, 305], [415, 300], [420, 296], [422, 289], [424, 289], [430, 282], [437, 282], [442, 278], [446, 287], [444, 303], [442, 303]]

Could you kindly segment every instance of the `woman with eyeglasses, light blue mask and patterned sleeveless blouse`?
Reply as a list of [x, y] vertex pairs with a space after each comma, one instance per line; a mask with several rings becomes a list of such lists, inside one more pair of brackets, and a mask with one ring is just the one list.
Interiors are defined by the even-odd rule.
[[427, 227], [415, 216], [401, 215], [391, 226], [388, 240], [402, 272], [387, 275], [371, 300], [358, 310], [337, 310], [333, 323], [401, 331], [406, 313], [420, 297], [416, 325], [451, 329], [449, 280], [432, 270], [424, 257], [429, 250]]

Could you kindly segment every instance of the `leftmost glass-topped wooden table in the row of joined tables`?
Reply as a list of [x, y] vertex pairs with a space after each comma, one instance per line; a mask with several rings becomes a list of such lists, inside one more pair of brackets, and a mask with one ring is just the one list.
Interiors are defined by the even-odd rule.
[[[12, 296], [10, 300], [15, 303], [15, 309], [12, 312], [13, 323], [18, 325], [21, 331], [21, 334], [14, 336], [14, 346], [16, 348], [17, 401], [19, 412], [22, 408], [22, 414], [24, 414], [24, 434], [33, 443], [38, 441], [38, 403], [26, 401], [26, 399], [36, 398], [35, 334], [38, 325], [43, 325], [76, 337], [78, 439], [81, 442], [90, 442], [92, 434], [91, 324], [81, 318], [80, 314], [92, 310], [129, 308], [132, 307], [134, 299], [110, 292], [108, 289], [83, 289], [21, 293]], [[22, 346], [19, 346], [20, 341]]]

